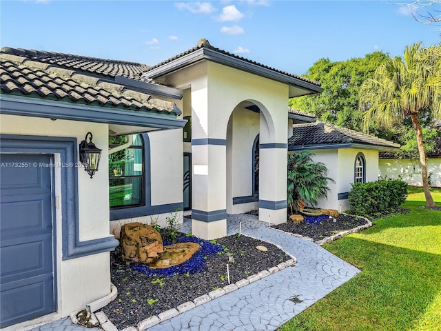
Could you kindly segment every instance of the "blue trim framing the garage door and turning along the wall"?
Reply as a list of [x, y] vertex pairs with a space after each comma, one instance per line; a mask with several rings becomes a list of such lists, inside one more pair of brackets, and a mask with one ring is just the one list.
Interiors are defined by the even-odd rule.
[[[59, 154], [61, 164], [78, 162], [76, 138], [0, 134], [0, 152]], [[79, 240], [78, 168], [60, 167], [63, 260], [108, 252], [119, 245], [113, 236]]]

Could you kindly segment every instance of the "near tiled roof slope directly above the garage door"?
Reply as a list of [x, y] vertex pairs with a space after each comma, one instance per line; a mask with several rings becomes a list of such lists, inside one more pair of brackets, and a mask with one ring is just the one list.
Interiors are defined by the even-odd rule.
[[27, 57], [0, 53], [1, 93], [124, 110], [181, 114], [169, 101]]

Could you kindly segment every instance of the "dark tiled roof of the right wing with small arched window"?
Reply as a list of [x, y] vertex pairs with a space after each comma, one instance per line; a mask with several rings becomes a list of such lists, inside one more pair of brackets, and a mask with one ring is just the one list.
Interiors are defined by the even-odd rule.
[[320, 121], [295, 124], [293, 126], [293, 135], [288, 139], [289, 147], [304, 146], [304, 148], [307, 148], [307, 146], [326, 146], [347, 143], [385, 148], [400, 147], [398, 143], [393, 143], [392, 141]]

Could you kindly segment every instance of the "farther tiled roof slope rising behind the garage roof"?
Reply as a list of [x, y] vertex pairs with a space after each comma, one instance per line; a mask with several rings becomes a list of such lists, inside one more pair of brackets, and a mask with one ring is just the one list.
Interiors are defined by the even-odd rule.
[[112, 78], [121, 76], [146, 81], [141, 78], [141, 74], [150, 68], [142, 63], [83, 57], [74, 54], [44, 52], [39, 50], [23, 50], [21, 48], [3, 47], [1, 52], [25, 57], [41, 63], [48, 63], [59, 68], [75, 70], [76, 72], [83, 71]]

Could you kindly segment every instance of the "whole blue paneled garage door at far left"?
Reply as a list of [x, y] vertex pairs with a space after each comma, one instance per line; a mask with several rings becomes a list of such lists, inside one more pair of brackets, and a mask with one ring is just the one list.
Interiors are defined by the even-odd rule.
[[1, 328], [55, 310], [51, 159], [1, 154]]

